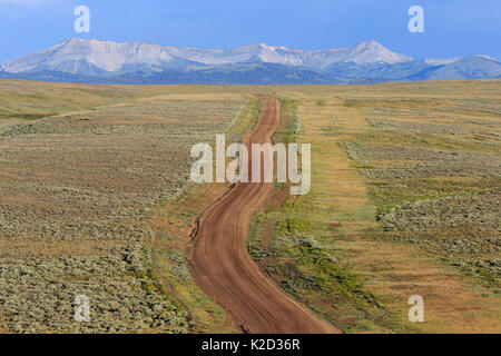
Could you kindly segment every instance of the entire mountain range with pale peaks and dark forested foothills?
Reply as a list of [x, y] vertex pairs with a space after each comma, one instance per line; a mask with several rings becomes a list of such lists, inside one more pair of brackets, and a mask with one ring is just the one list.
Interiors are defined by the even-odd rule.
[[299, 50], [253, 44], [230, 49], [68, 39], [0, 67], [0, 78], [86, 83], [371, 83], [501, 78], [488, 56], [418, 60], [376, 41]]

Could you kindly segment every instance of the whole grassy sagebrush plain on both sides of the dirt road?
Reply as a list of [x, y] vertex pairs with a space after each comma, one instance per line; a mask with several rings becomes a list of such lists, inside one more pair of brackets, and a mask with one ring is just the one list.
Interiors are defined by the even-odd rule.
[[[312, 144], [312, 191], [275, 185], [248, 249], [347, 333], [501, 330], [501, 81], [99, 87], [0, 81], [0, 332], [237, 332], [184, 259], [227, 190], [189, 147], [238, 141], [281, 99], [275, 142]], [[89, 324], [72, 300], [91, 300]], [[425, 323], [407, 320], [422, 295]]]

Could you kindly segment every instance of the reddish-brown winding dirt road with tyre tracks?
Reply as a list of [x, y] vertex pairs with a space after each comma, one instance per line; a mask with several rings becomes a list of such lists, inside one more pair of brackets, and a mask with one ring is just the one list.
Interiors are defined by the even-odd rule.
[[[244, 137], [247, 147], [271, 142], [278, 127], [277, 100], [259, 98], [263, 112], [255, 129]], [[237, 184], [204, 214], [188, 254], [191, 275], [244, 333], [340, 333], [279, 290], [247, 254], [249, 220], [271, 189], [271, 184]]]

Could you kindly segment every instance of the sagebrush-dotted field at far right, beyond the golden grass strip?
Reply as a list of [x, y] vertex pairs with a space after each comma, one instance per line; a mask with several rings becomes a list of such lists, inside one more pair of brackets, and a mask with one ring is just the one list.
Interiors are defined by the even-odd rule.
[[382, 238], [419, 245], [499, 295], [500, 92], [492, 82], [471, 97], [448, 89], [346, 100], [371, 129], [345, 147], [370, 181]]

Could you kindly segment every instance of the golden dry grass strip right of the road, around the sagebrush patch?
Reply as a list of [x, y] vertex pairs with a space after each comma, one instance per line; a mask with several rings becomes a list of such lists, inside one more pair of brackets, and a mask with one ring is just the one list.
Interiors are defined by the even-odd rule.
[[[318, 87], [317, 90], [312, 89], [308, 93], [304, 93], [298, 88], [282, 90], [282, 95], [298, 102], [298, 115], [304, 128], [299, 140], [312, 142], [312, 192], [298, 198], [294, 208], [295, 215], [312, 221], [313, 236], [320, 238], [325, 246], [340, 250], [344, 264], [353, 268], [365, 283], [366, 288], [385, 300], [385, 307], [400, 319], [393, 325], [394, 330], [409, 327], [407, 332], [418, 333], [499, 333], [501, 329], [500, 299], [478, 278], [465, 276], [458, 268], [443, 263], [440, 255], [428, 254], [409, 244], [373, 239], [372, 236], [379, 234], [372, 233], [377, 231], [377, 222], [374, 216], [374, 202], [367, 196], [370, 181], [358, 172], [360, 162], [351, 161], [337, 144], [344, 140], [356, 140], [364, 134], [372, 135], [374, 130], [365, 118], [375, 115], [381, 108], [405, 109], [400, 115], [402, 120], [410, 122], [421, 120], [454, 123], [455, 120], [464, 119], [464, 115], [468, 115], [492, 121], [497, 125], [493, 131], [499, 132], [497, 130], [499, 130], [501, 115], [495, 112], [501, 112], [501, 108], [495, 105], [501, 102], [499, 101], [500, 83], [498, 80], [395, 83], [330, 89]], [[422, 101], [423, 98], [424, 101]], [[345, 100], [351, 100], [350, 105], [346, 105]], [[439, 102], [439, 100], [442, 101]], [[464, 100], [461, 105], [464, 108], [471, 106], [471, 110], [452, 110], [443, 115], [442, 102], [446, 103], [445, 107], [454, 108], [449, 100], [454, 101], [454, 106], [458, 100]], [[477, 102], [483, 102], [489, 108], [485, 109], [485, 115], [480, 113], [483, 109], [478, 107]], [[421, 113], [416, 113], [416, 110], [424, 111], [425, 117], [421, 119]], [[435, 112], [442, 113], [439, 120], [434, 119]], [[382, 115], [389, 120], [395, 119], [391, 111], [384, 111]], [[333, 126], [333, 117], [337, 129], [322, 130]], [[462, 145], [466, 149], [483, 148], [472, 141], [463, 142], [462, 138], [454, 137], [452, 142]], [[432, 139], [440, 144], [441, 140], [449, 138], [432, 136]], [[374, 141], [377, 142], [377, 140], [379, 137], [375, 136]], [[499, 152], [499, 139], [487, 140], [498, 145]], [[490, 150], [490, 148], [485, 149]], [[392, 160], [383, 164], [394, 167], [395, 162], [397, 161]], [[323, 231], [330, 224], [334, 224], [336, 228], [330, 234], [330, 241], [326, 241], [322, 239], [322, 236], [325, 235]], [[411, 324], [406, 320], [409, 310], [406, 300], [414, 294], [422, 295], [425, 299], [426, 317], [423, 324]], [[342, 319], [350, 317], [348, 313], [343, 315], [342, 312], [330, 310], [320, 297], [301, 295], [299, 297], [306, 298], [315, 310], [331, 315], [331, 319], [341, 326], [343, 326]], [[336, 309], [336, 305], [332, 308]], [[360, 320], [360, 324], [351, 326], [350, 330], [392, 330], [391, 327], [380, 327]]]

